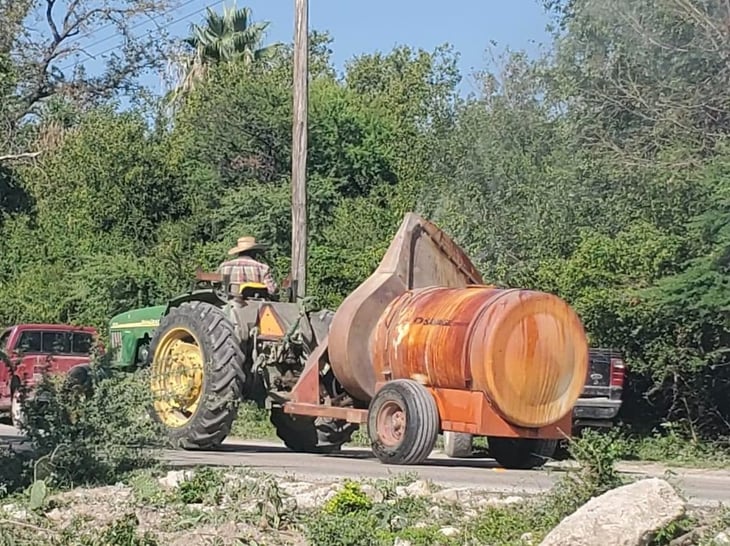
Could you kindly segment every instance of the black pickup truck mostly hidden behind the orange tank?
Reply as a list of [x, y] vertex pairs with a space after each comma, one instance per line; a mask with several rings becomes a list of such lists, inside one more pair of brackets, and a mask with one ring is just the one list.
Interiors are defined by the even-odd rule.
[[[615, 349], [592, 347], [581, 397], [573, 407], [573, 434], [584, 428], [608, 428], [621, 409], [626, 366]], [[472, 435], [444, 432], [444, 452], [449, 457], [469, 457]]]

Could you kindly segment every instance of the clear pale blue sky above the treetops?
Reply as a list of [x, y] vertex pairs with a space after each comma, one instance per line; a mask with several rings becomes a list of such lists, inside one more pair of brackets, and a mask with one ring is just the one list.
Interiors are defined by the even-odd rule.
[[[290, 42], [294, 34], [294, 0], [179, 0], [180, 7], [170, 14], [173, 23], [168, 31], [173, 36], [188, 35], [191, 23], [200, 23], [205, 8], [222, 12], [224, 3], [248, 6], [256, 21], [267, 20], [267, 40]], [[433, 50], [450, 43], [460, 54], [463, 80], [462, 93], [476, 91], [469, 75], [489, 66], [486, 49], [496, 42], [497, 50], [505, 47], [524, 49], [530, 54], [539, 44], [548, 44], [545, 29], [548, 18], [538, 0], [454, 0], [447, 8], [435, 0], [310, 0], [310, 30], [329, 31], [333, 61], [338, 70], [356, 55], [387, 52], [396, 45]], [[152, 29], [152, 23], [141, 26], [140, 34]], [[107, 31], [108, 32], [108, 31]], [[103, 40], [102, 43], [98, 43]], [[105, 53], [114, 46], [114, 39], [103, 33], [85, 38], [93, 55]], [[93, 72], [94, 60], [84, 62]], [[161, 90], [159, 77], [147, 76], [145, 83]]]

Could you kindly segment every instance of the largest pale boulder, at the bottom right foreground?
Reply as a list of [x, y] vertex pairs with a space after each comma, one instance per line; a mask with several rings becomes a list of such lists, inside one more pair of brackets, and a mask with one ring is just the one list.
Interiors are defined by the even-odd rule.
[[540, 546], [644, 546], [685, 513], [684, 501], [659, 478], [618, 487], [561, 521]]

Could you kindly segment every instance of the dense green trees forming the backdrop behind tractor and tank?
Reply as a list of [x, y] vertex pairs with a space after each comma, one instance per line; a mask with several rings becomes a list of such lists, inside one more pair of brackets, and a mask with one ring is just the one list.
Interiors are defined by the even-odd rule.
[[[403, 213], [420, 212], [489, 281], [560, 294], [594, 345], [625, 351], [627, 420], [725, 434], [728, 4], [545, 5], [551, 51], [506, 55], [467, 99], [448, 47], [362, 55], [338, 77], [313, 34], [309, 291], [336, 306]], [[2, 54], [10, 104], [17, 73]], [[59, 92], [22, 127], [42, 153], [0, 163], [0, 322], [103, 328], [185, 288], [247, 233], [286, 276], [291, 48], [209, 62], [173, 113]]]

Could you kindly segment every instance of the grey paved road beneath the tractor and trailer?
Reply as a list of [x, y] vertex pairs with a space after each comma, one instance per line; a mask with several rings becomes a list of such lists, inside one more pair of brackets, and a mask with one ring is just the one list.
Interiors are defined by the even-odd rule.
[[[14, 428], [0, 425], [0, 441], [22, 441]], [[450, 459], [434, 451], [423, 465], [384, 465], [367, 449], [345, 447], [336, 455], [292, 453], [281, 444], [261, 441], [227, 440], [218, 451], [166, 451], [172, 466], [243, 466], [274, 474], [309, 478], [368, 477], [416, 472], [423, 479], [451, 487], [478, 487], [486, 491], [533, 494], [545, 491], [565, 472], [566, 463], [547, 465], [541, 470], [504, 470], [492, 459]], [[569, 463], [568, 463], [569, 465]], [[662, 477], [665, 468], [650, 464], [621, 464], [622, 472]], [[669, 480], [691, 504], [730, 504], [730, 471], [674, 469]]]

